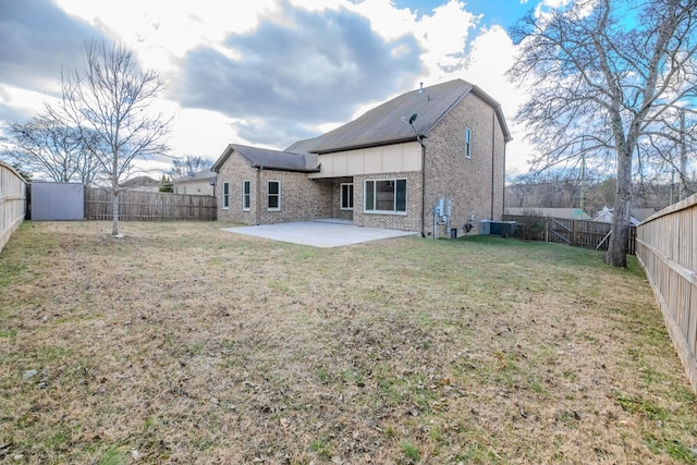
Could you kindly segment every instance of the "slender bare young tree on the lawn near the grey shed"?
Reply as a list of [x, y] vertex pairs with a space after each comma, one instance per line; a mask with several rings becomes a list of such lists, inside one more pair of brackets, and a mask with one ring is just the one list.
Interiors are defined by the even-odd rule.
[[164, 88], [155, 71], [142, 71], [133, 52], [103, 42], [87, 46], [87, 63], [61, 75], [63, 97], [47, 106], [49, 114], [80, 130], [99, 172], [112, 193], [112, 235], [119, 235], [120, 184], [136, 159], [147, 160], [169, 150], [166, 138], [171, 119], [154, 114], [151, 105]]

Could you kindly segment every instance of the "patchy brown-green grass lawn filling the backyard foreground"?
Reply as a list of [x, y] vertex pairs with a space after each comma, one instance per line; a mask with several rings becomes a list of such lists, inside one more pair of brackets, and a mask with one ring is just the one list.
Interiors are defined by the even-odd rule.
[[0, 462], [697, 463], [697, 401], [634, 258], [225, 225], [21, 227], [0, 254]]

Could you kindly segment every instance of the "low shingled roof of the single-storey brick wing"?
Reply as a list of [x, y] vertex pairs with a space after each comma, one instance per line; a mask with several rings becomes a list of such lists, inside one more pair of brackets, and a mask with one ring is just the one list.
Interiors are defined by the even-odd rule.
[[211, 171], [218, 172], [220, 167], [233, 152], [240, 154], [252, 163], [252, 168], [266, 170], [295, 171], [301, 173], [314, 173], [319, 171], [316, 158], [291, 151], [271, 150], [267, 148], [249, 147], [246, 145], [230, 144], [216, 161]]

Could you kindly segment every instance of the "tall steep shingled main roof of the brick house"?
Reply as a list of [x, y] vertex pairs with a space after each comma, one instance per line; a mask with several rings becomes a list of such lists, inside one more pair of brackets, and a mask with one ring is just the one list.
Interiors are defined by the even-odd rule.
[[[494, 109], [505, 140], [511, 140], [501, 106], [479, 87], [454, 79], [402, 94], [319, 137], [298, 140], [286, 150], [328, 154], [411, 142], [416, 140], [417, 136], [428, 137], [433, 127], [468, 94], [476, 95]], [[413, 127], [409, 124], [412, 115], [417, 117]]]

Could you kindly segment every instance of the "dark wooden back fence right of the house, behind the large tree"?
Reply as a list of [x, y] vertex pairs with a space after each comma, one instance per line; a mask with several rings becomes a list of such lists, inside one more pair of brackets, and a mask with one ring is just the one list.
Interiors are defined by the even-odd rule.
[[[610, 231], [612, 224], [602, 221], [571, 220], [565, 218], [531, 217], [531, 216], [504, 216], [505, 220], [518, 223], [539, 221], [538, 241], [555, 242], [576, 247], [607, 250], [610, 244]], [[627, 253], [634, 255], [636, 250], [636, 228], [629, 228], [627, 240]]]

